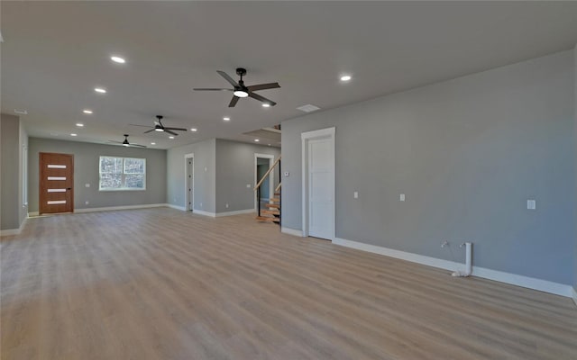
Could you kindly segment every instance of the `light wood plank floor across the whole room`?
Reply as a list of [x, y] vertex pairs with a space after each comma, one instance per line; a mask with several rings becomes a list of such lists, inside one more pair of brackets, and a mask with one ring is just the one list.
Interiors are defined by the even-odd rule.
[[577, 359], [572, 300], [171, 209], [2, 238], [3, 360]]

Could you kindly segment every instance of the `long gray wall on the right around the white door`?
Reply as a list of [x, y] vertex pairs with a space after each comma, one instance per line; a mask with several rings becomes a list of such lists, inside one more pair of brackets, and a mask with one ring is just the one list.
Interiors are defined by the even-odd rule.
[[441, 240], [469, 240], [475, 266], [572, 284], [573, 76], [564, 51], [283, 121], [283, 226], [301, 229], [300, 133], [334, 126], [337, 238], [458, 261]]

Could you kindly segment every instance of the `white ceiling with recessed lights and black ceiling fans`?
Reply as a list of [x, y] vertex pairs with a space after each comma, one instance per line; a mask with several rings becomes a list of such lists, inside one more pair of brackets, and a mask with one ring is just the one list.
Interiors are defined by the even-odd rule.
[[[127, 133], [155, 148], [246, 139], [307, 103], [330, 109], [577, 42], [574, 2], [2, 2], [0, 10], [2, 112], [27, 110], [31, 136], [105, 142]], [[241, 99], [229, 109], [229, 92], [192, 91], [227, 87], [216, 70], [236, 77], [235, 67], [247, 68], [246, 85], [278, 81], [260, 92], [278, 105]], [[353, 80], [340, 84], [343, 73]], [[156, 114], [198, 131], [169, 140], [128, 125], [152, 125]]]

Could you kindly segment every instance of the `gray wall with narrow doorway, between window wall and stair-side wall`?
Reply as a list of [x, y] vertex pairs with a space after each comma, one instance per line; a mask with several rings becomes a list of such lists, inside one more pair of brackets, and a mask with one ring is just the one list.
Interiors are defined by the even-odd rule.
[[215, 139], [168, 150], [168, 201], [172, 205], [185, 207], [184, 156], [190, 153], [194, 153], [193, 209], [215, 212]]

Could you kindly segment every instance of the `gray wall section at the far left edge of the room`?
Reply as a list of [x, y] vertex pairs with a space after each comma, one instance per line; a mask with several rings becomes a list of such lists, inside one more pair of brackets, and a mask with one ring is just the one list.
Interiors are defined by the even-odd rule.
[[0, 229], [19, 229], [27, 212], [23, 203], [22, 158], [28, 136], [17, 116], [3, 113], [0, 138]]

